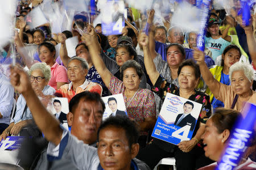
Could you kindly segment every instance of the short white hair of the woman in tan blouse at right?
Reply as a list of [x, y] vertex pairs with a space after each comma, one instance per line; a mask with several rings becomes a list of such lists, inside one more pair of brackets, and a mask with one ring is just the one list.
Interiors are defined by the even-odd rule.
[[234, 71], [243, 71], [243, 74], [247, 77], [247, 79], [252, 82], [254, 79], [254, 71], [253, 67], [246, 63], [236, 62], [229, 68], [229, 79], [231, 82], [232, 73]]

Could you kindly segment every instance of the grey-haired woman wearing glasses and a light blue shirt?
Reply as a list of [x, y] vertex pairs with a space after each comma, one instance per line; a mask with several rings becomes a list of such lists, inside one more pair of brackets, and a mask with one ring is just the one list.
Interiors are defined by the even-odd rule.
[[[55, 93], [55, 89], [48, 85], [51, 78], [51, 69], [46, 63], [35, 63], [31, 66], [28, 74], [30, 75], [32, 88], [38, 96], [43, 97]], [[26, 100], [20, 95], [16, 103], [15, 116], [9, 127], [1, 134], [0, 141], [8, 135], [18, 135], [19, 131], [30, 122], [32, 122], [31, 112], [27, 108]]]

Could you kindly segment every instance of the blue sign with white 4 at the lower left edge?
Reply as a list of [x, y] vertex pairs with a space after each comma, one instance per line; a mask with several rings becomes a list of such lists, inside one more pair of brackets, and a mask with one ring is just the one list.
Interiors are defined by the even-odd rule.
[[20, 148], [22, 142], [26, 137], [7, 137], [5, 140], [2, 140], [0, 143], [0, 150], [16, 150]]

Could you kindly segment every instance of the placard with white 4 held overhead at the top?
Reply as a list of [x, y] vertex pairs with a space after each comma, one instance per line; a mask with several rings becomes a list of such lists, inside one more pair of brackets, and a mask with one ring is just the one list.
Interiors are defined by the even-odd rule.
[[104, 35], [119, 35], [125, 27], [125, 4], [123, 1], [109, 0], [102, 12], [102, 33]]

